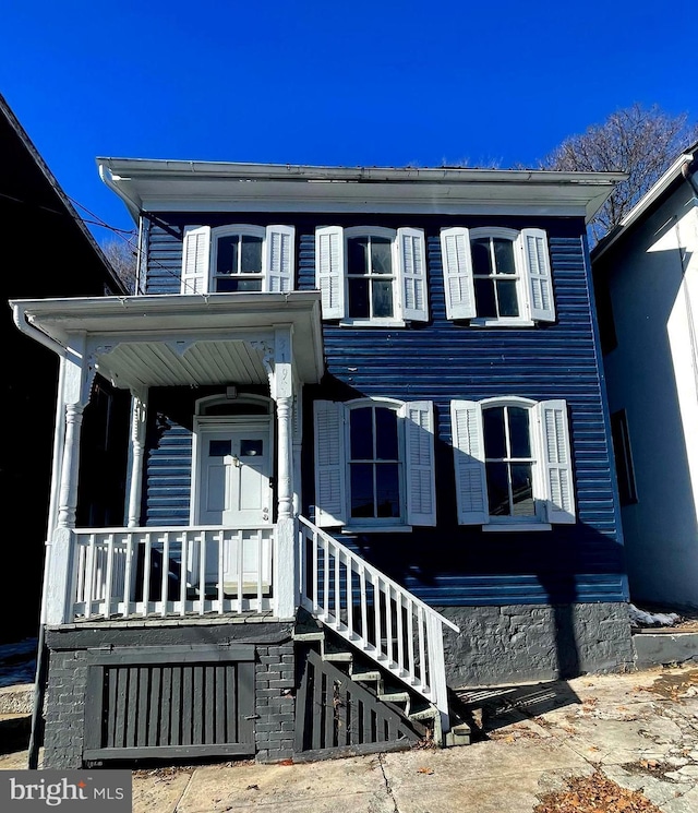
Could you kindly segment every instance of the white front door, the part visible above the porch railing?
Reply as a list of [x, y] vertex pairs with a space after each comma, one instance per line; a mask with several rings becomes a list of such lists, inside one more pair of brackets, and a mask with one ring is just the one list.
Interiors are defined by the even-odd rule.
[[268, 422], [201, 428], [198, 524], [272, 524], [270, 445]]

